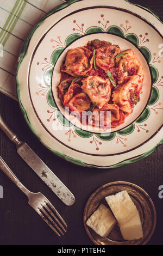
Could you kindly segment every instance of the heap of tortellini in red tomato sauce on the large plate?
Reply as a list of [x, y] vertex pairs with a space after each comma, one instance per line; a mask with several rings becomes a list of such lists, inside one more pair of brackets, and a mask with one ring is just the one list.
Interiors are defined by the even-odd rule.
[[[143, 77], [133, 50], [121, 51], [118, 45], [96, 39], [67, 51], [58, 95], [70, 112], [79, 113], [84, 125], [113, 129], [139, 102]], [[84, 112], [89, 113], [85, 120]]]

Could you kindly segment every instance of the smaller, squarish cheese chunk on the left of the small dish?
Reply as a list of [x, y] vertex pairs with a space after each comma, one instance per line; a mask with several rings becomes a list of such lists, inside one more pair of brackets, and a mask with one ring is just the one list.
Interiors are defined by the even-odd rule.
[[103, 204], [93, 212], [86, 224], [92, 228], [98, 235], [107, 236], [116, 224], [115, 217], [111, 211]]

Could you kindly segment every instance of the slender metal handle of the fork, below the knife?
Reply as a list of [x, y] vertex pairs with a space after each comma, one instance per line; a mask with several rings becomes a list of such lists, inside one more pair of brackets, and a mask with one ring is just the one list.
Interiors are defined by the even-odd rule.
[[15, 185], [20, 188], [20, 190], [26, 194], [27, 197], [32, 193], [29, 190], [27, 190], [26, 187], [20, 182], [20, 180], [17, 179], [14, 173], [12, 173], [12, 170], [8, 167], [7, 163], [2, 159], [0, 156], [0, 169], [8, 176], [8, 178], [15, 183]]

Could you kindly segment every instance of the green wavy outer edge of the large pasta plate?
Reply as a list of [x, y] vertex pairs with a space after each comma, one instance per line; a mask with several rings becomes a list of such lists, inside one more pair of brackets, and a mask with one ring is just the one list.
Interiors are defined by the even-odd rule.
[[[69, 5], [75, 3], [75, 2], [80, 2], [80, 1], [83, 1], [83, 0], [70, 0], [66, 3], [63, 3], [63, 4], [60, 4], [58, 5], [58, 7], [55, 7], [54, 9], [52, 9], [51, 11], [49, 11], [49, 13], [47, 13], [45, 16], [42, 17], [42, 19], [40, 20], [39, 23], [37, 23], [34, 28], [32, 29], [32, 31], [30, 32], [30, 34], [27, 36], [27, 39], [26, 41], [24, 42], [24, 45], [22, 47], [22, 50], [21, 50], [21, 53], [20, 53], [20, 56], [18, 57], [18, 64], [17, 64], [17, 69], [16, 69], [16, 83], [17, 83], [17, 97], [18, 97], [18, 102], [20, 104], [20, 108], [21, 108], [21, 111], [22, 111], [22, 114], [25, 118], [25, 120], [27, 121], [27, 124], [28, 126], [30, 127], [30, 129], [33, 131], [33, 133], [35, 134], [35, 136], [37, 138], [39, 138], [39, 140], [41, 141], [40, 137], [37, 135], [37, 133], [35, 132], [35, 130], [33, 129], [32, 125], [30, 124], [30, 121], [28, 119], [28, 115], [26, 113], [26, 110], [24, 109], [22, 103], [21, 103], [21, 97], [20, 97], [20, 84], [19, 84], [19, 81], [18, 81], [18, 70], [20, 68], [20, 65], [22, 63], [22, 60], [23, 58], [26, 56], [27, 54], [27, 50], [28, 50], [28, 45], [29, 45], [29, 42], [30, 42], [30, 39], [32, 38], [34, 32], [36, 31], [37, 28], [39, 28], [42, 23], [44, 22], [44, 20], [50, 16], [51, 14], [54, 14], [54, 13], [57, 13], [59, 10], [62, 10], [66, 7], [68, 7]], [[132, 5], [135, 5], [139, 8], [142, 8], [143, 10], [145, 11], [148, 11], [149, 13], [151, 13], [152, 15], [154, 15], [161, 23], [163, 23], [162, 19], [159, 17], [159, 15], [157, 15], [152, 9], [150, 8], [147, 8], [147, 7], [144, 7], [143, 5], [140, 5], [140, 4], [135, 4], [135, 3], [131, 3], [129, 0], [123, 0], [125, 2], [128, 2]], [[79, 166], [83, 166], [83, 167], [90, 167], [90, 168], [99, 168], [99, 169], [107, 169], [107, 168], [117, 168], [117, 167], [122, 167], [123, 165], [125, 164], [129, 164], [129, 163], [134, 163], [136, 161], [139, 161], [149, 155], [151, 155], [155, 150], [156, 148], [158, 148], [159, 145], [163, 144], [163, 138], [160, 140], [160, 142], [158, 144], [156, 144], [152, 149], [148, 150], [146, 153], [140, 155], [140, 156], [136, 156], [136, 157], [133, 157], [131, 159], [128, 159], [128, 160], [124, 160], [120, 163], [117, 163], [117, 164], [114, 164], [112, 166], [93, 166], [92, 164], [86, 164], [84, 163], [83, 161], [81, 160], [78, 160], [78, 159], [74, 159], [72, 157], [69, 157], [69, 156], [66, 156], [62, 153], [60, 153], [59, 151], [55, 151], [55, 150], [52, 150], [51, 148], [47, 147], [47, 145], [45, 143], [43, 143], [41, 141], [41, 143], [43, 145], [45, 145], [46, 148], [48, 148], [50, 151], [52, 151], [55, 155], [61, 157], [62, 159], [68, 161], [68, 162], [71, 162], [71, 163], [74, 163], [74, 164], [78, 164]]]

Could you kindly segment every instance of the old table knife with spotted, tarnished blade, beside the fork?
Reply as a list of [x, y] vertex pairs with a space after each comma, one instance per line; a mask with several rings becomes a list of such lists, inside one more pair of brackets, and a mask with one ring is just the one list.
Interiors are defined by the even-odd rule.
[[45, 163], [37, 156], [34, 151], [17, 135], [12, 132], [3, 118], [0, 115], [0, 128], [8, 136], [10, 141], [14, 142], [17, 148], [17, 153], [22, 159], [34, 170], [34, 172], [48, 185], [49, 188], [62, 200], [63, 203], [70, 206], [75, 202], [73, 194], [68, 188], [58, 179], [58, 177], [49, 169]]

